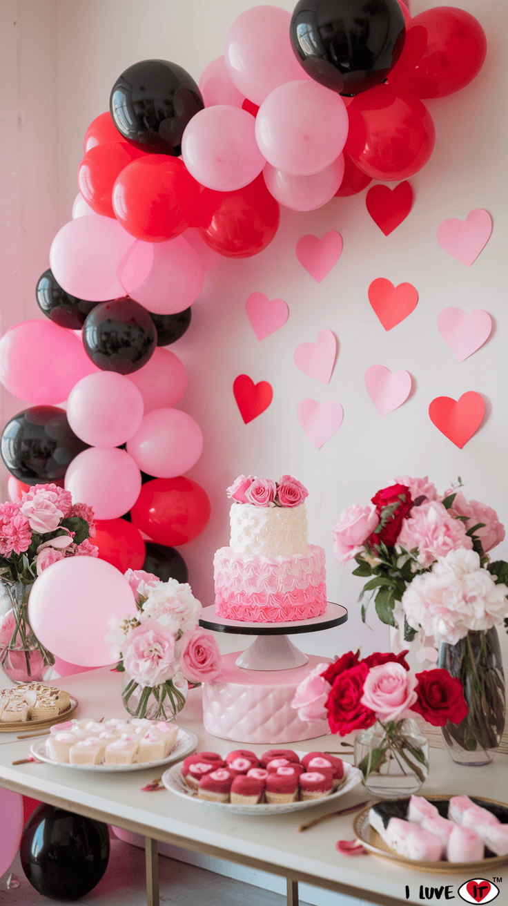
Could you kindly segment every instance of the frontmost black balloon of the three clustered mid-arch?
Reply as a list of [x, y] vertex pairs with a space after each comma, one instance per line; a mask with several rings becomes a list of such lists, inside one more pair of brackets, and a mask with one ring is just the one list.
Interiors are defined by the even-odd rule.
[[83, 345], [101, 371], [132, 374], [154, 352], [157, 328], [147, 309], [125, 296], [95, 306], [83, 324]]

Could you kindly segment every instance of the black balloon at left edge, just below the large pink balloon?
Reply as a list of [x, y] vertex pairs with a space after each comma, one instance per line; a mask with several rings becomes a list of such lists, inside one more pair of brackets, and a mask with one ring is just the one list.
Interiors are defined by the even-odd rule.
[[56, 406], [33, 406], [5, 425], [0, 453], [11, 475], [25, 485], [62, 478], [74, 457], [88, 447]]

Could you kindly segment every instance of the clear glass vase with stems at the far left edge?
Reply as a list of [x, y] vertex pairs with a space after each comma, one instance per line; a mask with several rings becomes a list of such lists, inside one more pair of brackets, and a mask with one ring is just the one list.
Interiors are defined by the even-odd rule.
[[33, 584], [0, 577], [0, 666], [15, 683], [48, 679], [53, 670], [53, 654], [35, 638], [28, 622]]

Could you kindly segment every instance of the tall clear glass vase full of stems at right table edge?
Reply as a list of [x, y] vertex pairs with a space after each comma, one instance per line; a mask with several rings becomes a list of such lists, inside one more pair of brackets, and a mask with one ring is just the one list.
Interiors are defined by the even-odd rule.
[[497, 630], [469, 631], [455, 645], [443, 642], [437, 666], [461, 680], [469, 708], [460, 724], [442, 728], [448, 752], [459, 765], [489, 765], [503, 736], [506, 711]]

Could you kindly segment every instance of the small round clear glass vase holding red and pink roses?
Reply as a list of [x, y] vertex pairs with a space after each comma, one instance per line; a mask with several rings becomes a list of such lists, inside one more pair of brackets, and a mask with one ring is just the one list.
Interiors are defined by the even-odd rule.
[[427, 779], [428, 740], [411, 718], [377, 721], [356, 737], [355, 765], [372, 795], [411, 795]]

